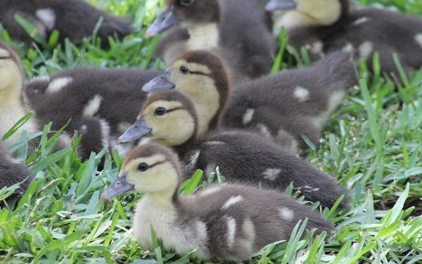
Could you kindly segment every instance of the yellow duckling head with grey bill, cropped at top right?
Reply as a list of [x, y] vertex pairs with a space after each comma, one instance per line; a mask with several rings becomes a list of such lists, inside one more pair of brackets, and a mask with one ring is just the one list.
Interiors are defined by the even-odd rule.
[[340, 18], [343, 4], [340, 1], [349, 0], [270, 0], [265, 9], [267, 11], [281, 9], [305, 15], [305, 17], [289, 16], [293, 20], [298, 20], [291, 21], [292, 24], [297, 22], [298, 24], [324, 26], [332, 25]]

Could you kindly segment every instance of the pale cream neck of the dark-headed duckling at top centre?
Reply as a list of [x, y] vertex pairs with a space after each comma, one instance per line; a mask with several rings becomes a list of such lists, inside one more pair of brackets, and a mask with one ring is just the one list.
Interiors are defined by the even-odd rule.
[[189, 39], [188, 50], [210, 50], [218, 47], [219, 30], [217, 22], [186, 25]]

